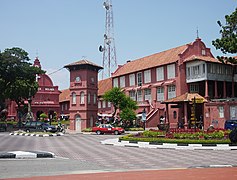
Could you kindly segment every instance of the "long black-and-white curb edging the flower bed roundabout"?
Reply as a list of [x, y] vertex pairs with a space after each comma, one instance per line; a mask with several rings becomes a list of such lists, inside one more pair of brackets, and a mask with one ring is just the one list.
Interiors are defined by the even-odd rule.
[[104, 145], [153, 148], [153, 149], [173, 149], [173, 150], [237, 150], [237, 145], [231, 144], [172, 144], [172, 143], [150, 143], [137, 141], [119, 141], [116, 139], [107, 139], [101, 141]]

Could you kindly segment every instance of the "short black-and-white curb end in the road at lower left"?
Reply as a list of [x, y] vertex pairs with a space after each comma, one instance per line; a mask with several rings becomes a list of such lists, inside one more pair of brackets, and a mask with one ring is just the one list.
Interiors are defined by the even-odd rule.
[[42, 151], [9, 151], [0, 152], [0, 159], [36, 159], [36, 158], [54, 158], [54, 153]]

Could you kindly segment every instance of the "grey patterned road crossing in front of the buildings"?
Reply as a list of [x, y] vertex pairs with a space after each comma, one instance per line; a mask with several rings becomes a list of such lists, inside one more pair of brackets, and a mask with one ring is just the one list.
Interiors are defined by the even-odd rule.
[[0, 152], [49, 151], [56, 155], [53, 159], [0, 159], [0, 178], [237, 165], [237, 151], [148, 149], [100, 143], [108, 138], [115, 136], [25, 137], [0, 133]]

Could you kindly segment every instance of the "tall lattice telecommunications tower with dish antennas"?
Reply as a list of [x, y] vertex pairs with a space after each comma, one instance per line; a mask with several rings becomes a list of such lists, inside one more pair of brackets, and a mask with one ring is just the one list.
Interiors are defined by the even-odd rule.
[[103, 53], [102, 79], [110, 77], [111, 71], [117, 68], [112, 0], [106, 0], [103, 6], [106, 12], [104, 45], [99, 46], [99, 51]]

